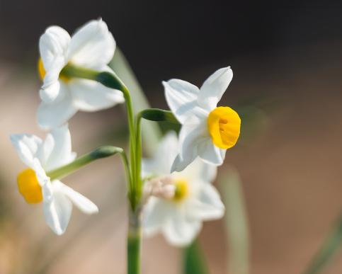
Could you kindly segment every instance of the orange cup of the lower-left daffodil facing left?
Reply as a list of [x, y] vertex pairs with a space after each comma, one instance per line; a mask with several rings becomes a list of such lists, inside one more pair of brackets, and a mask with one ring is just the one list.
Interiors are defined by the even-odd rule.
[[19, 192], [29, 204], [42, 202], [42, 187], [33, 169], [25, 169], [18, 174]]

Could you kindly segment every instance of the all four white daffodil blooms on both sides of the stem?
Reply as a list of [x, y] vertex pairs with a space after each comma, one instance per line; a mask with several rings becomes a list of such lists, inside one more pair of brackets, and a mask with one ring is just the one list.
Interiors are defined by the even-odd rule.
[[[28, 166], [18, 175], [19, 191], [29, 203], [42, 202], [46, 222], [56, 234], [65, 232], [72, 203], [87, 214], [98, 212], [93, 202], [47, 176], [76, 158], [67, 121], [77, 110], [96, 111], [125, 102], [121, 91], [94, 79], [70, 77], [65, 69], [112, 72], [107, 64], [114, 52], [115, 40], [102, 20], [87, 23], [72, 37], [52, 26], [40, 38], [43, 84], [37, 118], [38, 125], [50, 133], [44, 142], [27, 134], [12, 135], [11, 142]], [[147, 236], [162, 232], [171, 244], [183, 246], [198, 235], [203, 221], [224, 215], [212, 182], [226, 150], [239, 138], [239, 115], [232, 108], [217, 107], [232, 76], [230, 67], [219, 69], [200, 89], [178, 79], [163, 82], [181, 132], [179, 139], [169, 132], [154, 157], [142, 161], [142, 217]]]

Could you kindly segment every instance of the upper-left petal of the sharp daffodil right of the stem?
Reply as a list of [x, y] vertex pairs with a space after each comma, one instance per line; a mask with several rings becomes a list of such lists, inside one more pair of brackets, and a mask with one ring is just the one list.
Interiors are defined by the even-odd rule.
[[169, 108], [181, 124], [193, 115], [200, 118], [207, 115], [207, 112], [198, 106], [197, 86], [179, 79], [163, 81], [163, 85]]

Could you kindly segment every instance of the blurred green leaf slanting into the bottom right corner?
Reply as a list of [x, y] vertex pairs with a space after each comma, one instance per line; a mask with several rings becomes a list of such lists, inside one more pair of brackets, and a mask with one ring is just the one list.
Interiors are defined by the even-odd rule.
[[341, 249], [342, 245], [342, 215], [333, 225], [331, 232], [326, 237], [321, 249], [317, 251], [316, 255], [309, 264], [304, 274], [318, 274], [329, 264], [334, 258], [337, 251]]

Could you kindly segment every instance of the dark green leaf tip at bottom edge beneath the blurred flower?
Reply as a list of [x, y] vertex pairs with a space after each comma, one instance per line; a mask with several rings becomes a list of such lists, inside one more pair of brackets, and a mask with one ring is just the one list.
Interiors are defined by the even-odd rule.
[[193, 241], [183, 254], [183, 273], [184, 274], [207, 274], [207, 263], [205, 256], [200, 249], [198, 241]]

